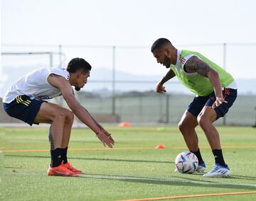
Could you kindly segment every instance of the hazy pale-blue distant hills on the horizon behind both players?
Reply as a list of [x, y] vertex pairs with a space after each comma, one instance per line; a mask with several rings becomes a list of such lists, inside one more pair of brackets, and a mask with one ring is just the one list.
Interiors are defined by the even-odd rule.
[[[26, 67], [3, 67], [2, 79], [0, 83], [0, 97], [2, 97], [14, 83], [24, 74], [33, 71], [35, 66]], [[151, 91], [154, 90], [156, 83], [164, 75], [145, 76], [122, 71], [115, 72], [115, 92], [125, 91]], [[238, 93], [240, 95], [256, 95], [256, 79], [237, 79]], [[99, 93], [102, 96], [110, 96], [112, 94], [112, 69], [94, 68], [92, 69], [90, 79], [83, 90], [93, 93]], [[181, 85], [179, 81], [174, 78], [166, 83], [166, 89], [169, 93], [192, 94], [186, 87]]]

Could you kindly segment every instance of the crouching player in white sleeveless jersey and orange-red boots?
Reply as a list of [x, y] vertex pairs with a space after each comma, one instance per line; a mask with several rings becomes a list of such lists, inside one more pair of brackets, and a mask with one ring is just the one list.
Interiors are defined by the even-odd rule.
[[[50, 124], [49, 142], [51, 163], [48, 176], [78, 176], [82, 171], [68, 162], [67, 152], [74, 115], [95, 132], [104, 145], [112, 148], [114, 140], [75, 98], [72, 86], [79, 91], [85, 86], [92, 67], [85, 59], [74, 58], [67, 69], [36, 69], [14, 83], [3, 98], [8, 115], [29, 125]], [[68, 107], [43, 101], [63, 96]]]

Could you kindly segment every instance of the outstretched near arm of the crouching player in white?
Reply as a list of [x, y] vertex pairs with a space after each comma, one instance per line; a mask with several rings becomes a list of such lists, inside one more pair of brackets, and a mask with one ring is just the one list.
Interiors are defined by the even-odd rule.
[[73, 111], [78, 119], [90, 127], [104, 145], [107, 144], [108, 147], [112, 148], [114, 140], [110, 137], [108, 132], [104, 129], [102, 130], [102, 127], [91, 117], [90, 113], [80, 105], [73, 94], [70, 83], [63, 76], [48, 76], [48, 82], [52, 86], [60, 89], [63, 98], [68, 103], [68, 107]]

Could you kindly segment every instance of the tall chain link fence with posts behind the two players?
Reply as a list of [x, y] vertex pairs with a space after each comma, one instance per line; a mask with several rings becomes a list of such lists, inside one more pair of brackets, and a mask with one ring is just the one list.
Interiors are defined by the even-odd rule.
[[[255, 125], [256, 79], [253, 76], [256, 68], [248, 58], [253, 58], [256, 44], [176, 46], [201, 52], [235, 78], [244, 79], [245, 82], [238, 83], [238, 93], [242, 93], [230, 108], [225, 122], [220, 119], [215, 123]], [[156, 64], [149, 47], [5, 44], [1, 50], [1, 96], [14, 80], [28, 71], [39, 67], [65, 68], [71, 58], [83, 57], [92, 64], [92, 72], [87, 86], [82, 93], [77, 93], [77, 97], [92, 114], [115, 115], [115, 120], [120, 122], [177, 124], [193, 100], [192, 94], [176, 79], [166, 84], [167, 95], [151, 92], [166, 74], [166, 69]], [[65, 105], [61, 98], [56, 101]]]

